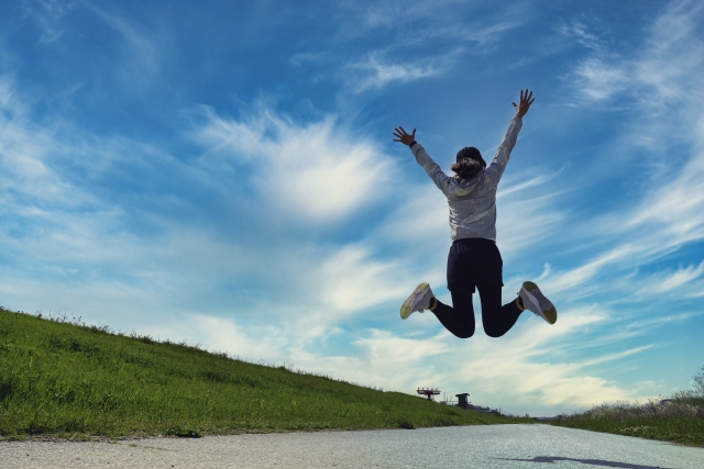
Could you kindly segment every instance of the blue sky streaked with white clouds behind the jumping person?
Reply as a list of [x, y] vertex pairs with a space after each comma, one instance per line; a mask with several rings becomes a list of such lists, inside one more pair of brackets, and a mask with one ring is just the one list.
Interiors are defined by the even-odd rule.
[[[667, 395], [701, 369], [702, 2], [2, 10], [4, 308], [514, 413]], [[420, 281], [449, 301], [450, 233], [394, 126], [447, 169], [493, 154], [526, 87], [504, 299], [532, 279], [558, 323], [463, 340], [402, 321]]]

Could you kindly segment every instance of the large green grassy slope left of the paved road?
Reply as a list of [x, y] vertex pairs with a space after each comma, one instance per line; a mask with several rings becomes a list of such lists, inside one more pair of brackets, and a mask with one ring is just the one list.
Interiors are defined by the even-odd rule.
[[0, 309], [0, 436], [70, 438], [525, 423], [186, 344]]

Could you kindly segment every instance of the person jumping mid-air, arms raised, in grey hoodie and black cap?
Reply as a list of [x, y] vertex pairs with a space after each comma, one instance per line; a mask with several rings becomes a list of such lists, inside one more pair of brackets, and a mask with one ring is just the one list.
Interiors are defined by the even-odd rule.
[[400, 306], [400, 317], [413, 312], [430, 310], [442, 325], [460, 338], [474, 334], [474, 308], [472, 294], [480, 291], [482, 324], [491, 337], [501, 337], [516, 324], [525, 310], [532, 311], [548, 323], [554, 324], [558, 312], [538, 286], [526, 281], [518, 298], [502, 306], [503, 260], [496, 247], [496, 187], [504, 174], [518, 132], [535, 99], [532, 91], [520, 90], [516, 115], [510, 120], [504, 141], [498, 146], [492, 164], [486, 167], [479, 149], [465, 147], [458, 152], [457, 163], [450, 166], [455, 172], [449, 177], [440, 169], [426, 149], [416, 142], [416, 130], [406, 133], [399, 126], [394, 131], [394, 142], [408, 145], [416, 160], [438, 186], [450, 205], [450, 232], [452, 247], [448, 256], [448, 289], [453, 306], [438, 301], [428, 283], [420, 283]]

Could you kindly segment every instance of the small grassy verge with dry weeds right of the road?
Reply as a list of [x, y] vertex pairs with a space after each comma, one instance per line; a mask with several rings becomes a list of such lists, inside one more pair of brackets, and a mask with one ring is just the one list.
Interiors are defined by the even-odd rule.
[[552, 421], [552, 425], [704, 446], [704, 398], [680, 392], [672, 402], [616, 402]]

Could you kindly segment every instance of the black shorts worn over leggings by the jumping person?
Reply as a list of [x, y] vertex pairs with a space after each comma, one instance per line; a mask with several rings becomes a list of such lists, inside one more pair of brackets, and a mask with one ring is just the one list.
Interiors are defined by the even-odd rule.
[[457, 239], [448, 255], [448, 289], [474, 293], [475, 287], [503, 287], [503, 267], [502, 255], [493, 241]]

